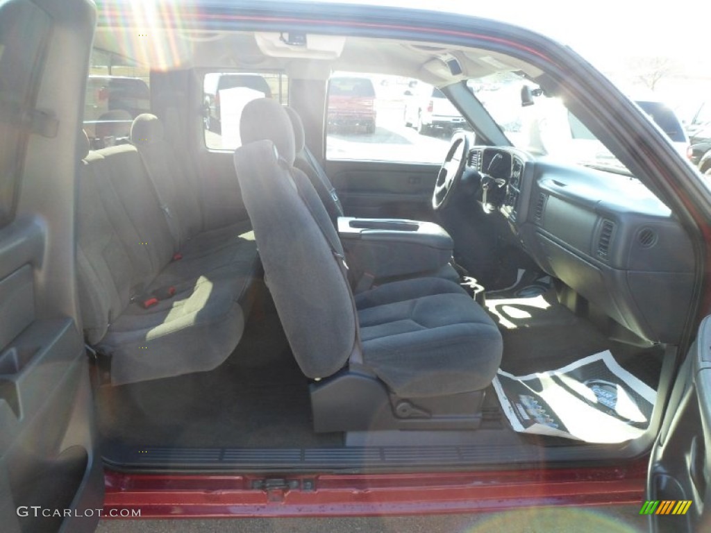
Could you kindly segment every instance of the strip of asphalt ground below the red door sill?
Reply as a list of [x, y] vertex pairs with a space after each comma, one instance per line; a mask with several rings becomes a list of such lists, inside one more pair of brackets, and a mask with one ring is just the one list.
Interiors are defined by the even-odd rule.
[[643, 533], [637, 505], [417, 517], [105, 520], [99, 533]]

